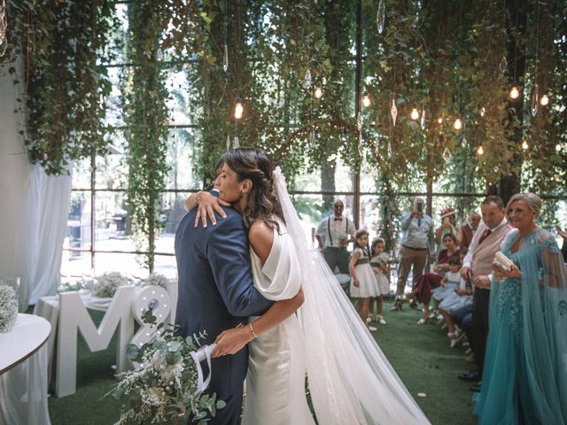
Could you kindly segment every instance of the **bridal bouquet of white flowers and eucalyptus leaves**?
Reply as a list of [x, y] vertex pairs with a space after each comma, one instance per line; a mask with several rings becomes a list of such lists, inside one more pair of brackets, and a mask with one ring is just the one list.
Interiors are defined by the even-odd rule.
[[[155, 326], [151, 311], [144, 313], [144, 323]], [[114, 398], [128, 398], [122, 405], [123, 424], [181, 424], [193, 421], [205, 424], [226, 404], [216, 394], [198, 392], [197, 365], [191, 352], [198, 349], [199, 336], [174, 336], [171, 325], [160, 323], [148, 343], [138, 348], [129, 344], [128, 357], [139, 364], [120, 375], [120, 383], [112, 391]]]

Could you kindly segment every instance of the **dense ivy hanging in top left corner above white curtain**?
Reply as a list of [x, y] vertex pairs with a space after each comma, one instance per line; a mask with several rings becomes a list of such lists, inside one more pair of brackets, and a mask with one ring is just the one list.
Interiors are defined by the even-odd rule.
[[27, 122], [21, 133], [30, 161], [47, 174], [68, 173], [70, 161], [105, 152], [101, 98], [110, 83], [97, 55], [115, 25], [113, 3], [6, 2], [10, 51], [0, 60], [11, 63], [16, 82], [24, 85]]

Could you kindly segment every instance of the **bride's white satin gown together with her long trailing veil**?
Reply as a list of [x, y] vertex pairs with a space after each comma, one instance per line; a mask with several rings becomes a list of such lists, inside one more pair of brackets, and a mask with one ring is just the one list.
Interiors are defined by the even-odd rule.
[[305, 302], [250, 344], [243, 423], [314, 423], [307, 370], [321, 425], [429, 424], [319, 251], [307, 247], [279, 167], [274, 176], [286, 224], [274, 230], [265, 265], [251, 250], [254, 285], [274, 300], [292, 298], [303, 285]]

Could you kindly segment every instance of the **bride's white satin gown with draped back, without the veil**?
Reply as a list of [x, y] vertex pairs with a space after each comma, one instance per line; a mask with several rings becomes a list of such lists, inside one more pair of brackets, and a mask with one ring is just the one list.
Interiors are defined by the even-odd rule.
[[[301, 285], [299, 260], [280, 223], [266, 263], [251, 249], [254, 286], [268, 299], [293, 298]], [[252, 317], [251, 321], [256, 318]], [[305, 395], [305, 339], [298, 316], [258, 336], [249, 345], [243, 425], [315, 424]]]

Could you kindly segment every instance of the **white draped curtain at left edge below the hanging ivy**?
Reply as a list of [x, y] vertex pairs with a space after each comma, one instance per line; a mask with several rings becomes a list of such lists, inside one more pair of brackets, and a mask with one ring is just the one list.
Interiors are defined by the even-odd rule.
[[[23, 98], [0, 67], [0, 277], [19, 277], [19, 310], [55, 294], [71, 195], [71, 177], [48, 176], [29, 163], [24, 147]], [[20, 81], [25, 79], [20, 78]]]

